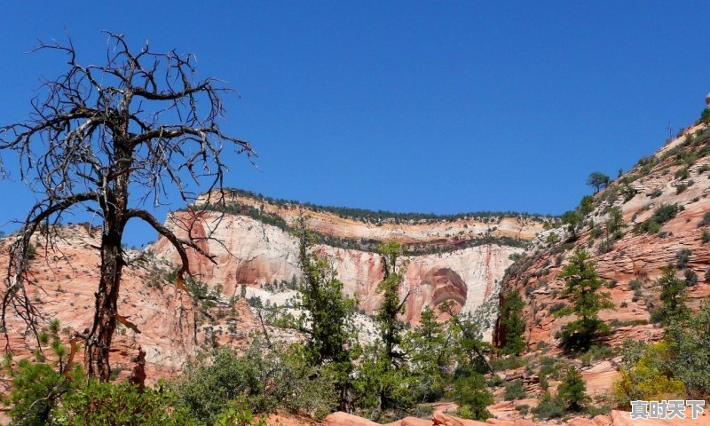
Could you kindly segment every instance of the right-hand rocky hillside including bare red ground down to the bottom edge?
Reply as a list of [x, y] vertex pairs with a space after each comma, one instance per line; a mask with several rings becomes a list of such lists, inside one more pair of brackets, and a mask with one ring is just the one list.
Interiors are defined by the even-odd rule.
[[[659, 151], [643, 158], [632, 170], [613, 180], [594, 195], [593, 209], [578, 227], [574, 238], [569, 225], [540, 233], [525, 256], [509, 268], [502, 282], [500, 300], [517, 290], [525, 306], [520, 316], [525, 320], [527, 351], [525, 368], [508, 371], [508, 377], [520, 377], [530, 400], [509, 402], [496, 395], [498, 403], [489, 407], [499, 418], [521, 418], [515, 406], [537, 404], [543, 393], [540, 387], [541, 359], [556, 359], [575, 366], [587, 383], [587, 391], [596, 404], [612, 405], [611, 390], [619, 378], [621, 343], [627, 338], [658, 341], [663, 328], [651, 320], [658, 309], [660, 288], [654, 281], [668, 264], [675, 265], [677, 276], [688, 284], [691, 309], [708, 301], [710, 296], [710, 126], [697, 124]], [[625, 226], [616, 235], [605, 232], [610, 209], [619, 208]], [[665, 214], [662, 214], [664, 213]], [[670, 212], [670, 213], [668, 213]], [[601, 291], [611, 296], [613, 307], [600, 312], [611, 327], [605, 338], [608, 351], [598, 358], [566, 357], [556, 337], [575, 317], [564, 312], [569, 301], [563, 295], [564, 281], [559, 273], [576, 249], [585, 249], [596, 263], [596, 271], [607, 281]], [[493, 343], [501, 346], [507, 330], [499, 322]], [[556, 391], [559, 381], [550, 380], [549, 390]], [[526, 415], [530, 418], [530, 415]], [[595, 418], [596, 421], [596, 418]], [[707, 424], [707, 417], [689, 424]], [[588, 424], [575, 422], [575, 424]], [[611, 424], [631, 422], [627, 413], [612, 412]], [[572, 422], [571, 422], [572, 424]], [[595, 424], [597, 424], [595, 422]], [[608, 421], [598, 424], [610, 424]], [[654, 421], [654, 424], [685, 424], [677, 420]]]

